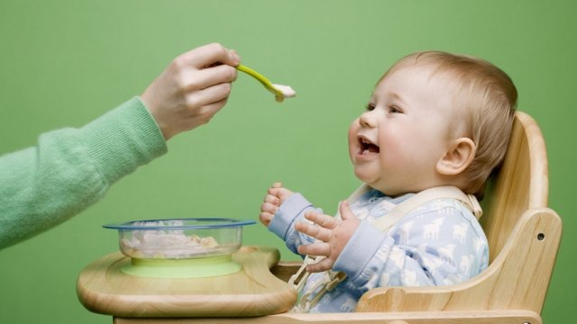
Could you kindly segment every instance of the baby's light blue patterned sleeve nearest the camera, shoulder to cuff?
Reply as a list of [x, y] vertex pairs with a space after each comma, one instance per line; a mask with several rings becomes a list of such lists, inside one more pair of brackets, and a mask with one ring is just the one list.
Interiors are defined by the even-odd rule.
[[334, 270], [347, 287], [364, 293], [379, 286], [457, 284], [488, 265], [489, 248], [471, 212], [428, 204], [385, 234], [362, 221], [337, 258]]

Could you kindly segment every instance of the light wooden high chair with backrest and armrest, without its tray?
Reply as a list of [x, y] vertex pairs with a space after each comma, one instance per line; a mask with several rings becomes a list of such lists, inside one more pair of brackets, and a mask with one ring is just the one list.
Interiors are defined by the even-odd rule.
[[[462, 284], [382, 287], [365, 293], [353, 313], [280, 313], [248, 318], [126, 318], [120, 323], [494, 323], [539, 324], [561, 240], [562, 223], [547, 208], [545, 142], [536, 122], [517, 112], [508, 153], [483, 201], [481, 225], [490, 266]], [[270, 272], [287, 281], [297, 263]]]

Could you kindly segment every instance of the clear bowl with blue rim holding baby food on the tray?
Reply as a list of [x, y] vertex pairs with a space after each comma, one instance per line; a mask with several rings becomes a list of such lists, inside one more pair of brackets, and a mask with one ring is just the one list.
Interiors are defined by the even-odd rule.
[[103, 225], [118, 230], [118, 245], [135, 259], [194, 259], [231, 255], [243, 244], [243, 226], [254, 220], [189, 218], [134, 220]]

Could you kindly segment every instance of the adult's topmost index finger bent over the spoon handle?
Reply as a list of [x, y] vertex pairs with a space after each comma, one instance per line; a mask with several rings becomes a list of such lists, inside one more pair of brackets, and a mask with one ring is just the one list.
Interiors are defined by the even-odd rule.
[[227, 49], [218, 43], [207, 44], [189, 50], [180, 55], [179, 59], [182, 59], [187, 64], [197, 68], [207, 67], [216, 62], [230, 65], [232, 67], [236, 67], [241, 63], [241, 58], [238, 56], [236, 51]]

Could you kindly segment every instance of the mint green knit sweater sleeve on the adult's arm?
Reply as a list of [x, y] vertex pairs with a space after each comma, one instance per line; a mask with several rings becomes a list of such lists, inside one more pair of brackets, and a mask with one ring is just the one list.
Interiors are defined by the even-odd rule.
[[69, 220], [166, 151], [134, 97], [80, 129], [44, 133], [35, 147], [0, 156], [0, 249]]

